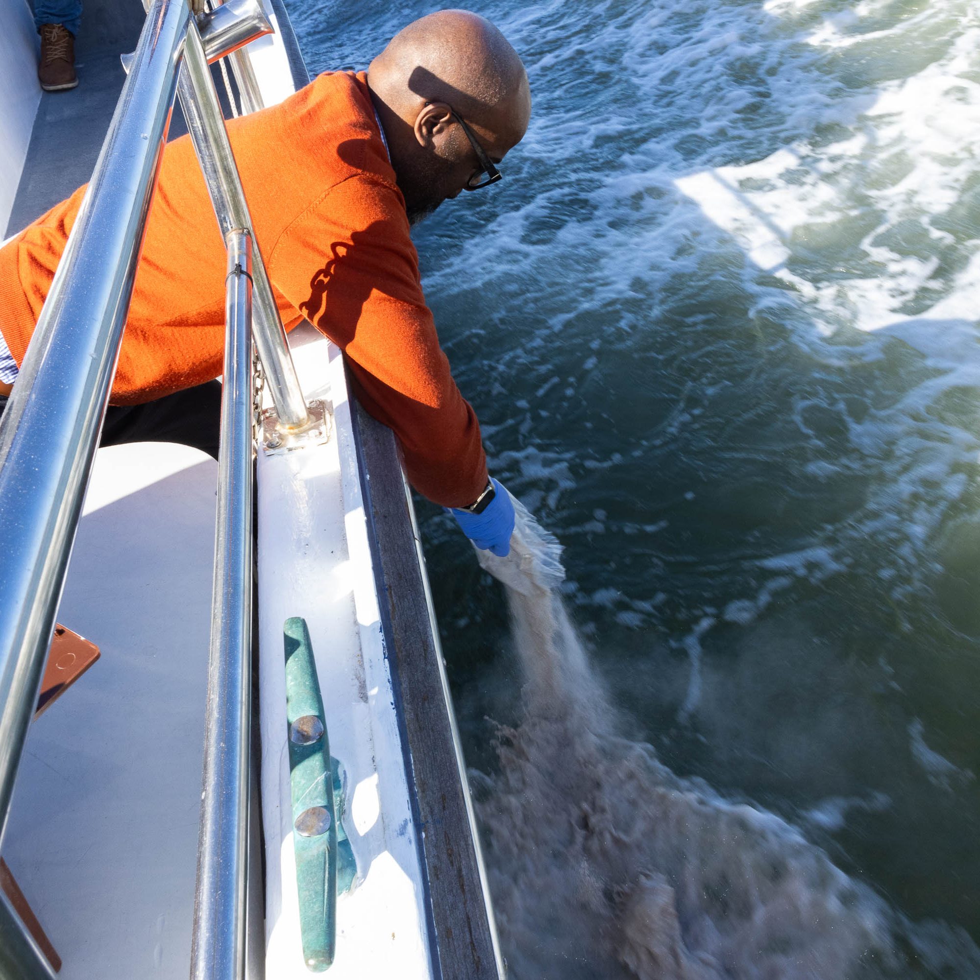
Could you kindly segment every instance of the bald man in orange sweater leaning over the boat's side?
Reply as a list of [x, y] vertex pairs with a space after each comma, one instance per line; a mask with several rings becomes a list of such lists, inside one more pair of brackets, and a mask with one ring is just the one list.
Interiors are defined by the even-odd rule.
[[[496, 164], [529, 116], [527, 75], [500, 31], [443, 11], [405, 27], [367, 73], [322, 74], [228, 125], [287, 328], [309, 319], [341, 347], [362, 404], [394, 429], [412, 484], [500, 555], [513, 505], [487, 475], [479, 425], [425, 306], [409, 228], [447, 198], [499, 179]], [[0, 371], [5, 346], [15, 368], [23, 363], [83, 192], [0, 249]], [[214, 401], [205, 382], [221, 372], [224, 262], [191, 145], [175, 140], [110, 400], [123, 408], [110, 409], [104, 444], [174, 438], [174, 426]], [[0, 382], [15, 377], [8, 363]]]

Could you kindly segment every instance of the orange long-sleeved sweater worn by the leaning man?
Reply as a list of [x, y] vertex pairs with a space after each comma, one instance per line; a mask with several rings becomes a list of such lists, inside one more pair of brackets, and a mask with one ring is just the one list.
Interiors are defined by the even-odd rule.
[[[472, 503], [487, 480], [479, 425], [425, 306], [365, 74], [321, 74], [228, 131], [287, 328], [306, 317], [344, 351], [357, 396], [394, 429], [420, 493], [449, 507]], [[0, 249], [0, 333], [19, 366], [84, 190]], [[147, 402], [221, 373], [224, 263], [184, 136], [164, 153], [113, 404]]]

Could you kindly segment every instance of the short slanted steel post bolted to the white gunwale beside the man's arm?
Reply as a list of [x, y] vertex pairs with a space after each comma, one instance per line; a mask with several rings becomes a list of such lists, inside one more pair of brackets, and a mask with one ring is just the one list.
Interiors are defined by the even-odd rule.
[[293, 366], [286, 331], [272, 296], [266, 265], [262, 260], [255, 229], [242, 190], [241, 177], [231, 152], [221, 103], [208, 68], [197, 25], [190, 25], [184, 47], [183, 68], [177, 85], [183, 110], [194, 144], [194, 152], [204, 172], [215, 214], [225, 235], [232, 228], [248, 228], [253, 235], [253, 270], [255, 279], [255, 344], [259, 351], [266, 381], [280, 425], [300, 429], [311, 424], [303, 389]]

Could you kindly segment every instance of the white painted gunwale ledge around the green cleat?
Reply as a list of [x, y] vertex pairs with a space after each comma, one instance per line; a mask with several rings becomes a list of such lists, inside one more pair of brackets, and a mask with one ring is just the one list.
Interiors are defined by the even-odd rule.
[[[349, 788], [345, 828], [359, 884], [337, 906], [330, 976], [430, 976], [408, 785], [368, 551], [343, 362], [313, 328], [291, 337], [308, 398], [332, 393], [334, 435], [260, 457], [259, 596], [267, 975], [306, 980], [301, 956], [286, 747], [282, 625], [306, 618], [331, 754]], [[328, 381], [329, 383], [324, 383]]]

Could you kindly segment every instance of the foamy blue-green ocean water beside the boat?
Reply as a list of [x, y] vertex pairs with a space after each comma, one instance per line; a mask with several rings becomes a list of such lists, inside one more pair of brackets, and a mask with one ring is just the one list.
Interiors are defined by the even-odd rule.
[[[431, 9], [291, 13], [320, 71]], [[417, 247], [584, 664], [420, 507], [512, 976], [980, 975], [980, 9], [479, 12], [531, 126]]]

